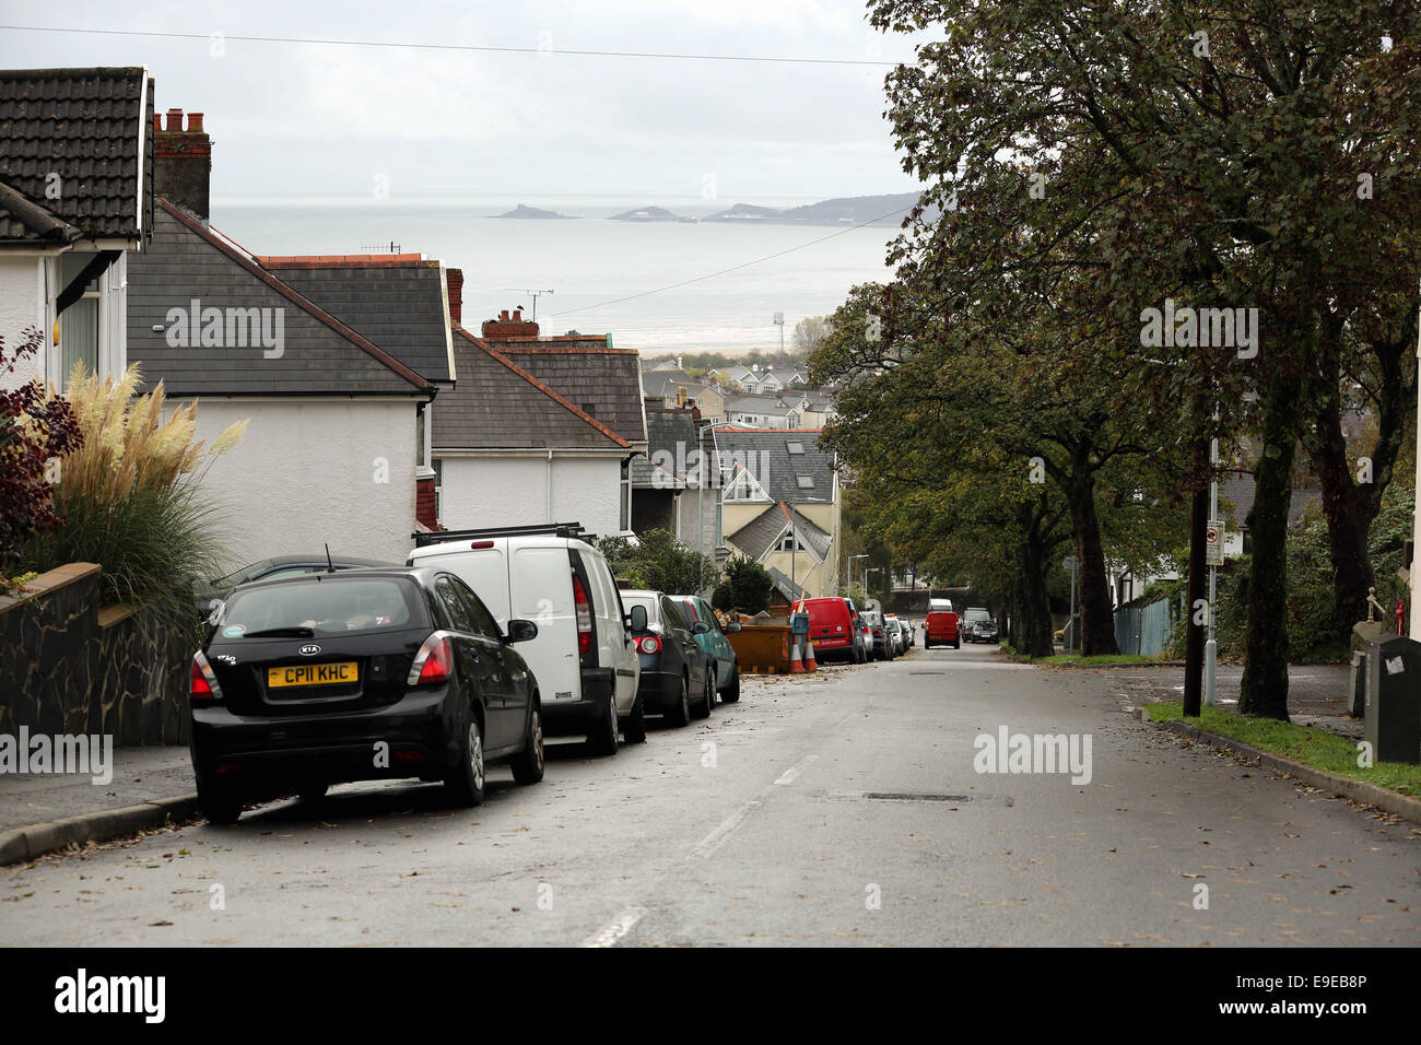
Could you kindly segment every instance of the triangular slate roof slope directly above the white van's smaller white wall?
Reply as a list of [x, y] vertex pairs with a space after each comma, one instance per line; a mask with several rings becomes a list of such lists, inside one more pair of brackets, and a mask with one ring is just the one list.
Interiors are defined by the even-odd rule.
[[453, 328], [459, 382], [439, 392], [433, 451], [628, 449], [625, 439], [460, 326]]

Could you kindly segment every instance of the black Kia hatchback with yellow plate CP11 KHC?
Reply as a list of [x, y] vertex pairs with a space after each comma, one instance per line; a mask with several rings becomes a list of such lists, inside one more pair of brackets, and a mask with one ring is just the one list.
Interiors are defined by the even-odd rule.
[[192, 661], [192, 763], [213, 823], [331, 783], [416, 776], [479, 805], [490, 762], [543, 779], [537, 682], [479, 596], [435, 567], [242, 584]]

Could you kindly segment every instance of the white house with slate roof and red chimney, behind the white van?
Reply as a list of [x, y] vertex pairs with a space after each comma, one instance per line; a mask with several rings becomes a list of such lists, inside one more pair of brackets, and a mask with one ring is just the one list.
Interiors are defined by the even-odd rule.
[[473, 370], [435, 411], [439, 523], [631, 533], [631, 462], [647, 449], [637, 351], [607, 334], [540, 337], [519, 310], [477, 336], [459, 318], [455, 364]]

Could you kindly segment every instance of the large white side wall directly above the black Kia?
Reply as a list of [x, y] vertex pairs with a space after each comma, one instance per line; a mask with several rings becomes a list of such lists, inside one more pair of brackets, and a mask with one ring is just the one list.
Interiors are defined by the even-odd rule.
[[246, 434], [205, 479], [222, 505], [232, 569], [327, 542], [333, 553], [405, 562], [415, 529], [415, 400], [206, 398], [198, 435], [210, 445], [242, 418], [252, 418]]

